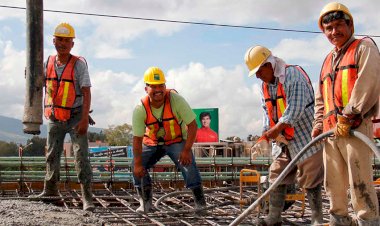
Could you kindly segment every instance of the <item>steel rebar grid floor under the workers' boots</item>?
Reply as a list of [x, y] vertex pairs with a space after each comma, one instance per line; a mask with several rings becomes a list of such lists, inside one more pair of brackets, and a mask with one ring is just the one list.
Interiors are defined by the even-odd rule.
[[[183, 189], [182, 191], [186, 191]], [[3, 191], [1, 199], [19, 199], [37, 201], [27, 198], [31, 194], [38, 194], [41, 190], [29, 190], [28, 192], [18, 192], [17, 190]], [[178, 192], [177, 188], [163, 188], [156, 184], [154, 187], [153, 203], [164, 195]], [[61, 189], [60, 197], [53, 198], [54, 205], [71, 210], [81, 210], [81, 193], [78, 189]], [[244, 211], [248, 205], [240, 206], [240, 191], [238, 186], [205, 187], [205, 197], [209, 209], [204, 214], [194, 213], [194, 201], [191, 193], [181, 193], [163, 199], [158, 208], [148, 214], [139, 214], [135, 210], [139, 206], [138, 195], [132, 189], [100, 185], [94, 188], [94, 204], [96, 209], [94, 214], [104, 222], [102, 225], [229, 225]], [[242, 193], [243, 198], [257, 197], [255, 188], [245, 188]], [[48, 201], [43, 200], [43, 201]], [[1, 200], [0, 200], [1, 202]], [[324, 222], [328, 222], [327, 197], [323, 196]], [[265, 208], [265, 207], [263, 207]], [[263, 211], [263, 210], [262, 210]], [[264, 211], [265, 212], [265, 211]], [[266, 213], [253, 211], [239, 225], [255, 225], [258, 217], [265, 217]], [[311, 211], [308, 202], [305, 202], [304, 211], [302, 201], [296, 201], [288, 210], [283, 213], [283, 225], [310, 225]], [[41, 225], [44, 225], [41, 222]], [[63, 224], [65, 225], [65, 224]], [[86, 225], [86, 224], [83, 224]]]

